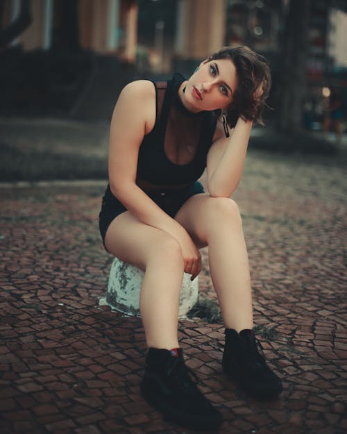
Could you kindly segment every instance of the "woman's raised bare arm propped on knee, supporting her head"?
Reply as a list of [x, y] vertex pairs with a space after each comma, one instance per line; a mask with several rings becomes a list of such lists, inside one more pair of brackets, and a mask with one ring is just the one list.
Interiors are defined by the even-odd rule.
[[208, 191], [212, 197], [230, 197], [241, 180], [253, 122], [239, 117], [229, 138], [221, 133], [223, 128], [218, 124], [219, 138], [208, 152]]

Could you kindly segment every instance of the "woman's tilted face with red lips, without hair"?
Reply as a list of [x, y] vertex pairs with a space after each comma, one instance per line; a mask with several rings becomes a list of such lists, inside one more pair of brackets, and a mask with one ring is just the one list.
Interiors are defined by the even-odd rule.
[[205, 60], [183, 83], [179, 94], [189, 111], [210, 111], [226, 108], [232, 101], [236, 86], [236, 68], [230, 59]]

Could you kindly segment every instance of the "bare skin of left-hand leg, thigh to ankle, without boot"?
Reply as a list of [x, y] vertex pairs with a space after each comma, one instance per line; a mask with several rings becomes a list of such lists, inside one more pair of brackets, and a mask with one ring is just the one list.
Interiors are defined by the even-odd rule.
[[124, 212], [110, 224], [105, 245], [120, 260], [145, 270], [139, 304], [147, 346], [178, 347], [178, 304], [184, 266], [180, 244], [168, 233]]

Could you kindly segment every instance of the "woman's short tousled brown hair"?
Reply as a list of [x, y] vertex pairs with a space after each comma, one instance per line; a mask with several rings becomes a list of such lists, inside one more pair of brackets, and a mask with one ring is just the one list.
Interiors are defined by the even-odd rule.
[[[235, 126], [237, 118], [242, 117], [263, 125], [262, 110], [271, 87], [269, 65], [263, 56], [246, 46], [223, 47], [211, 54], [208, 61], [228, 58], [235, 65], [238, 80], [232, 102], [226, 109], [228, 124]], [[259, 98], [256, 98], [254, 93], [261, 83], [263, 92]]]

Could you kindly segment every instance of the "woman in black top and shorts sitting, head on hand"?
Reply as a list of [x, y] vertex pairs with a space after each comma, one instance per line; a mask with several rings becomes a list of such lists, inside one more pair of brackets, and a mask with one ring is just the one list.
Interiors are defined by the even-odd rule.
[[[282, 391], [257, 351], [242, 221], [230, 199], [270, 83], [264, 58], [247, 47], [226, 47], [189, 80], [175, 74], [167, 83], [126, 85], [112, 116], [100, 229], [105, 249], [145, 270], [140, 312], [149, 351], [142, 394], [194, 428], [221, 423], [185, 367], [177, 337], [183, 272], [198, 276], [201, 247], [208, 246], [226, 326], [223, 371], [257, 397]], [[206, 167], [203, 192], [196, 180]]]

